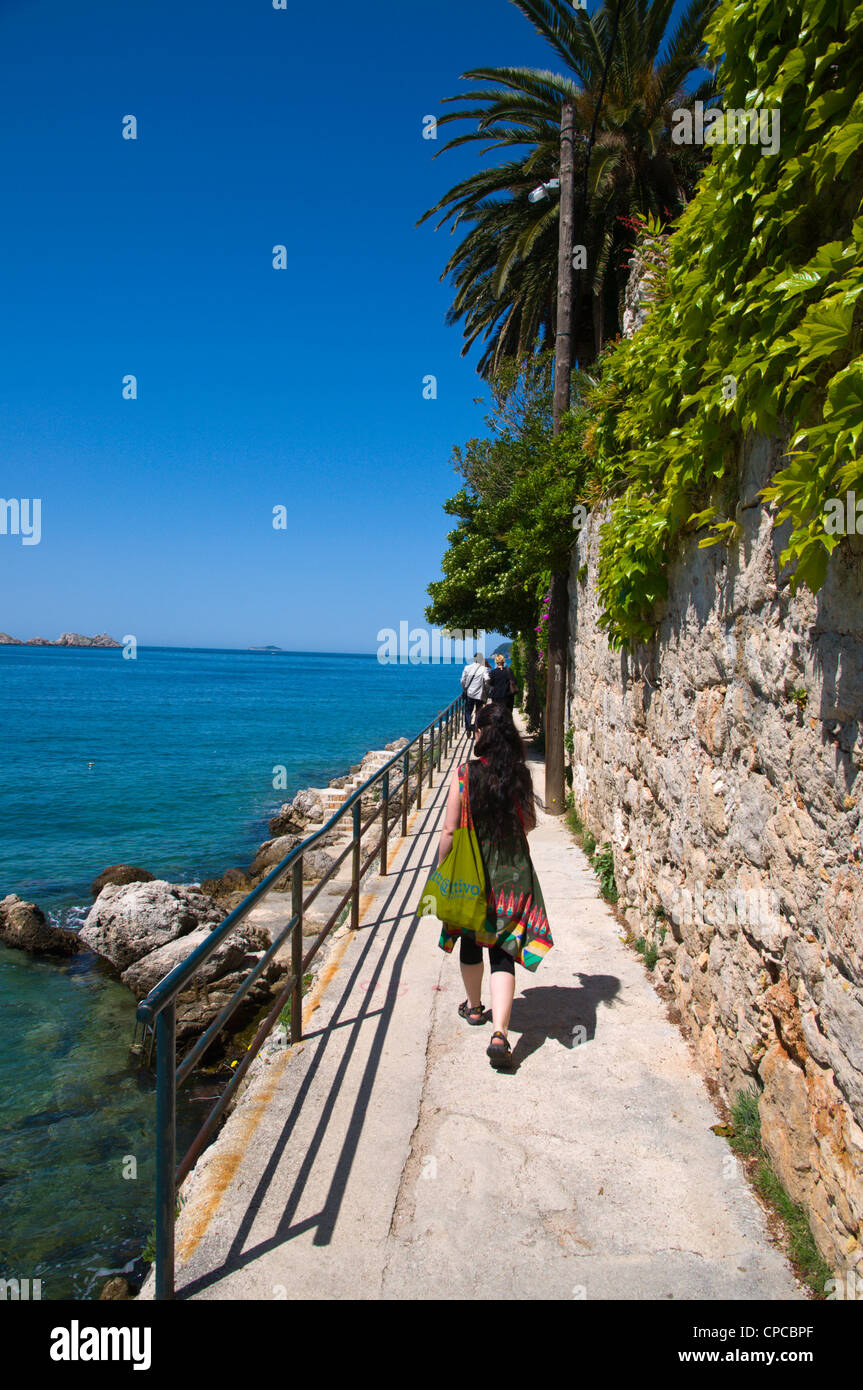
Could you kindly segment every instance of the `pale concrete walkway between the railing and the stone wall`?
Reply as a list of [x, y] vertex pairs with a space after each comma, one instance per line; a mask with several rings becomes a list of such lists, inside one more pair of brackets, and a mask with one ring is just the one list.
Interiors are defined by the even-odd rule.
[[456, 1012], [457, 951], [413, 915], [447, 781], [334, 940], [303, 1042], [261, 1062], [183, 1186], [178, 1297], [806, 1297], [584, 853], [542, 812], [556, 945], [516, 967], [517, 1069], [491, 1068], [491, 1019]]

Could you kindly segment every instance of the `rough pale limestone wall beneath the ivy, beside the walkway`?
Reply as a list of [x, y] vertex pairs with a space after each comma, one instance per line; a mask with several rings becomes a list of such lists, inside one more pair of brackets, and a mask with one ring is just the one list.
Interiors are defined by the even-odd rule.
[[598, 627], [603, 517], [581, 532], [574, 795], [705, 1072], [728, 1099], [763, 1087], [782, 1184], [832, 1268], [863, 1273], [863, 538], [792, 598], [787, 528], [756, 496], [778, 453], [746, 448], [741, 541], [687, 542], [656, 639], [628, 655]]

